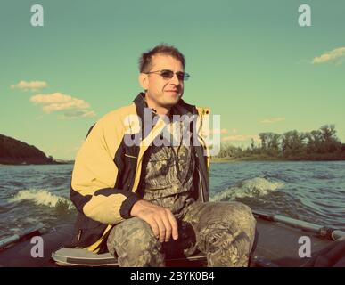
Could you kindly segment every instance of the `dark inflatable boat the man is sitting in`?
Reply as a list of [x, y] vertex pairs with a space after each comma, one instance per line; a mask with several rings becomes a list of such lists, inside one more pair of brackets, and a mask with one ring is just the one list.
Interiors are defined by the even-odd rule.
[[[345, 232], [287, 216], [253, 212], [259, 235], [251, 256], [252, 267], [308, 266], [308, 260], [334, 242], [345, 240]], [[96, 255], [83, 248], [63, 248], [72, 236], [73, 224], [46, 231], [44, 224], [0, 240], [0, 266], [118, 266], [109, 253]], [[37, 236], [43, 241], [41, 256], [32, 255]], [[35, 239], [33, 239], [35, 237]], [[308, 250], [310, 251], [308, 253]], [[36, 257], [34, 257], [36, 256]], [[204, 266], [206, 256], [199, 254], [169, 259], [167, 266]]]

